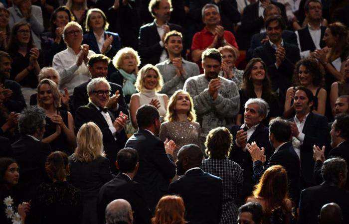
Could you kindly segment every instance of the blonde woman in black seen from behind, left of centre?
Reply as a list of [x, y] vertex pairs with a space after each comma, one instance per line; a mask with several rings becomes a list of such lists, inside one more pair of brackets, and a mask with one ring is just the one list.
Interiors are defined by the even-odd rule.
[[70, 183], [81, 190], [82, 224], [98, 223], [97, 195], [103, 184], [113, 178], [109, 159], [103, 154], [102, 131], [94, 122], [83, 124], [77, 134], [75, 153], [69, 156]]

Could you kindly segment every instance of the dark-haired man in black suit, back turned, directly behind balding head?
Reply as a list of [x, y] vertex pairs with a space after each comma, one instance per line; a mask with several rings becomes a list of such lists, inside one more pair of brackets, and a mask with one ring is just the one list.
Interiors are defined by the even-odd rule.
[[133, 148], [124, 148], [118, 152], [116, 167], [119, 174], [104, 184], [98, 194], [98, 223], [105, 224], [104, 211], [115, 199], [125, 199], [134, 211], [134, 224], [151, 224], [150, 212], [142, 186], [133, 181], [139, 168], [138, 153]]

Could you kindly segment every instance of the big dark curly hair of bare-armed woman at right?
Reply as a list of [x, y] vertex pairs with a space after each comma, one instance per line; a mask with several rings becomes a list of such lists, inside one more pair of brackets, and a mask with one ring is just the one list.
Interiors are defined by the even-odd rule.
[[299, 82], [299, 67], [303, 65], [309, 71], [312, 76], [313, 85], [315, 87], [323, 87], [325, 85], [325, 69], [324, 66], [314, 58], [304, 58], [296, 63], [295, 70], [293, 71], [293, 83], [295, 86], [301, 85]]

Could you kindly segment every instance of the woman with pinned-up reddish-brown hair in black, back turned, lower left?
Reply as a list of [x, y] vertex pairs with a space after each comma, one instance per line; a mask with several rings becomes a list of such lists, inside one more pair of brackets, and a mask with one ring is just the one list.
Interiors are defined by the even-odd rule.
[[37, 189], [32, 202], [33, 223], [81, 223], [81, 192], [67, 182], [70, 174], [67, 154], [52, 152], [47, 157], [45, 169], [52, 183], [42, 183]]

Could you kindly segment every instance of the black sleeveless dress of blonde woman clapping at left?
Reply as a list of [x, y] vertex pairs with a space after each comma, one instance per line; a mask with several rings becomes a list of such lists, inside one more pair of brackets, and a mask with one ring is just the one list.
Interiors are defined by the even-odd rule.
[[[61, 117], [63, 119], [63, 122], [66, 126], [68, 126], [68, 112], [63, 111], [63, 110], [57, 110], [57, 113], [61, 113]], [[45, 133], [43, 138], [46, 138], [47, 136], [50, 136], [54, 132], [56, 132], [56, 126], [57, 124], [52, 122], [51, 118], [46, 116], [46, 126], [45, 126]], [[52, 151], [62, 151], [70, 155], [72, 153], [71, 146], [68, 144], [68, 139], [63, 133], [63, 130], [61, 130], [61, 134], [51, 141], [50, 143]]]

